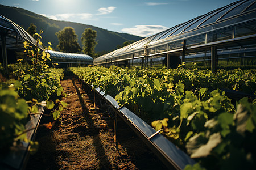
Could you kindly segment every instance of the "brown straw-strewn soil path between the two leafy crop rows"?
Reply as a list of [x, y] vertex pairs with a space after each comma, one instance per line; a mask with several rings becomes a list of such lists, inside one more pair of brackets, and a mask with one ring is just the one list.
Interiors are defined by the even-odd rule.
[[[52, 129], [38, 130], [40, 147], [30, 156], [26, 169], [166, 169], [121, 118], [116, 147], [114, 120], [109, 117], [114, 112], [108, 105], [95, 109], [91, 90], [74, 78], [62, 80], [61, 85], [68, 107]], [[50, 117], [43, 116], [41, 124], [49, 121]]]

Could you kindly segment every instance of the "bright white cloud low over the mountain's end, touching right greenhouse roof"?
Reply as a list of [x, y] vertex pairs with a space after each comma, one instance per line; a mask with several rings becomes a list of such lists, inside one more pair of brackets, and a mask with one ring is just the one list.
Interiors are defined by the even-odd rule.
[[123, 28], [122, 31], [141, 37], [148, 37], [166, 29], [167, 27], [162, 25], [135, 25], [133, 28]]

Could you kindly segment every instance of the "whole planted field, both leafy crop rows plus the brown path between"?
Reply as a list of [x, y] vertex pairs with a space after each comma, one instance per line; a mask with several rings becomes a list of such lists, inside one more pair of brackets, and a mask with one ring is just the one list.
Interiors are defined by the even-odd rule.
[[[195, 63], [192, 69], [88, 66], [64, 71], [48, 68], [48, 53], [34, 52], [26, 43], [24, 47], [32, 65], [20, 59], [9, 65], [9, 73], [1, 69], [2, 157], [26, 142], [31, 154], [38, 151], [30, 169], [38, 160], [43, 160], [43, 169], [136, 169], [145, 168], [144, 162], [150, 162], [146, 167], [164, 167], [128, 127], [119, 127], [114, 146], [112, 114], [93, 105], [91, 90], [76, 83], [81, 80], [114, 97], [156, 131], [162, 129], [164, 137], [196, 160], [185, 169], [255, 168], [255, 69], [211, 73]], [[46, 111], [35, 142], [26, 134], [38, 127], [27, 129], [26, 123], [38, 114], [42, 101]]]

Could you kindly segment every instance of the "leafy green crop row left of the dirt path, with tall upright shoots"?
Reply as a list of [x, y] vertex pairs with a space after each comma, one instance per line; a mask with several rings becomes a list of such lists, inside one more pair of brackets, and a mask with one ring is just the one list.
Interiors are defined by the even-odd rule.
[[[25, 52], [28, 54], [32, 65], [23, 65], [22, 59], [14, 66], [16, 70], [9, 73], [9, 77], [15, 79], [0, 80], [0, 148], [8, 151], [10, 146], [19, 141], [28, 141], [25, 125], [30, 115], [38, 114], [41, 101], [47, 101], [47, 108], [53, 109], [53, 119], [59, 118], [60, 111], [67, 104], [57, 99], [55, 102], [49, 100], [53, 95], [63, 94], [60, 79], [63, 78], [63, 69], [49, 69], [47, 53], [50, 47], [40, 50], [40, 35], [35, 48], [28, 42], [24, 42]], [[49, 126], [48, 126], [49, 125]], [[46, 124], [51, 128], [50, 124]], [[34, 127], [32, 127], [33, 129]], [[30, 129], [31, 130], [31, 129]]]

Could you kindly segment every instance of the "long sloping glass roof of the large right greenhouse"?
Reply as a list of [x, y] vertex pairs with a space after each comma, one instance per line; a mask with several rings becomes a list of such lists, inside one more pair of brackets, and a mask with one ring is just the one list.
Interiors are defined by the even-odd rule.
[[[241, 24], [243, 22], [255, 22], [255, 20], [255, 0], [233, 2], [227, 6], [218, 8], [217, 10], [210, 11], [207, 14], [191, 19], [188, 22], [184, 22], [179, 25], [176, 25], [175, 27], [169, 28], [166, 31], [159, 32], [156, 35], [146, 37], [145, 39], [134, 42], [133, 44], [127, 45], [121, 49], [117, 49], [113, 52], [100, 56], [94, 59], [94, 63], [109, 58], [123, 56], [125, 54], [141, 51], [144, 49], [144, 45], [147, 45], [148, 48], [156, 44], [164, 45], [175, 40], [184, 40], [188, 37], [197, 36], [200, 33], [209, 33], [220, 28], [233, 27], [233, 25]], [[248, 29], [254, 29], [252, 32], [255, 33], [255, 28]], [[229, 38], [232, 39], [233, 37], [229, 36]], [[204, 42], [206, 40], [202, 40], [202, 43], [207, 43]]]

